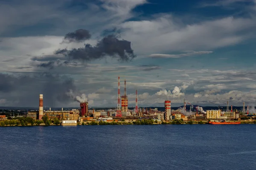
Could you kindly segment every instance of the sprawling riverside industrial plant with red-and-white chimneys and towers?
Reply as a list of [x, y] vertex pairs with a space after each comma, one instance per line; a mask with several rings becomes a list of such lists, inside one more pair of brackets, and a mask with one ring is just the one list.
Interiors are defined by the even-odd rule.
[[[78, 123], [87, 122], [134, 122], [137, 120], [150, 119], [155, 123], [172, 122], [181, 120], [187, 121], [239, 121], [241, 119], [254, 119], [255, 113], [249, 113], [249, 106], [245, 111], [245, 103], [243, 102], [242, 111], [233, 109], [233, 105], [229, 106], [227, 101], [227, 109], [224, 110], [216, 105], [216, 109], [206, 110], [198, 105], [192, 105], [183, 99], [183, 106], [174, 110], [171, 107], [171, 100], [165, 100], [163, 103], [164, 111], [158, 108], [138, 108], [138, 91], [135, 91], [135, 108], [128, 108], [128, 96], [126, 94], [126, 79], [124, 79], [124, 93], [120, 95], [120, 77], [118, 77], [117, 87], [117, 107], [111, 109], [93, 109], [89, 107], [87, 101], [80, 101], [80, 108], [71, 110], [52, 110], [44, 108], [43, 94], [39, 94], [39, 110], [29, 111], [27, 117], [42, 120], [44, 116], [47, 119], [58, 119], [61, 125], [77, 125]], [[189, 106], [186, 106], [188, 104]], [[214, 103], [212, 103], [214, 104]], [[89, 109], [90, 108], [90, 109]], [[189, 108], [189, 109], [187, 109]], [[231, 109], [230, 109], [231, 108]], [[2, 117], [1, 119], [5, 119]]]

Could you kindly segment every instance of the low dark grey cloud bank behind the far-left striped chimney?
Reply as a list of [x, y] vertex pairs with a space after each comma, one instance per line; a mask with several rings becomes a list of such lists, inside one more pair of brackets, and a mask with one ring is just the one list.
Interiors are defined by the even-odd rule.
[[13, 76], [0, 74], [0, 94], [7, 100], [16, 101], [16, 106], [37, 106], [39, 94], [44, 95], [44, 105], [56, 106], [70, 102], [66, 95], [76, 90], [73, 79], [49, 73]]

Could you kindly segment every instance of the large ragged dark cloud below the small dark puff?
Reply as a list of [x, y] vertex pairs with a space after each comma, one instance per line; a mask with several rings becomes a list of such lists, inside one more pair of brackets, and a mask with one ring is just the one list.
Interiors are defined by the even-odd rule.
[[118, 40], [113, 35], [104, 37], [95, 46], [85, 44], [83, 48], [59, 49], [55, 51], [55, 54], [63, 54], [69, 59], [79, 59], [82, 61], [93, 61], [106, 56], [118, 58], [119, 61], [131, 61], [136, 57], [131, 49], [131, 42]]

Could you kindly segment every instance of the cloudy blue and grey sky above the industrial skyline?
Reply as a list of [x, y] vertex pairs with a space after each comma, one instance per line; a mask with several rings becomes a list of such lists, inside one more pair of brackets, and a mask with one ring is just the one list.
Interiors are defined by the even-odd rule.
[[256, 0], [0, 3], [0, 106], [255, 106]]

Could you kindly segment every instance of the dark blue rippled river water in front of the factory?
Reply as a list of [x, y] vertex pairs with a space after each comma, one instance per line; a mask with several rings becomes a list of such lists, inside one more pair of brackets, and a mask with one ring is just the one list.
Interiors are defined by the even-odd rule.
[[256, 125], [0, 127], [0, 170], [255, 170]]

